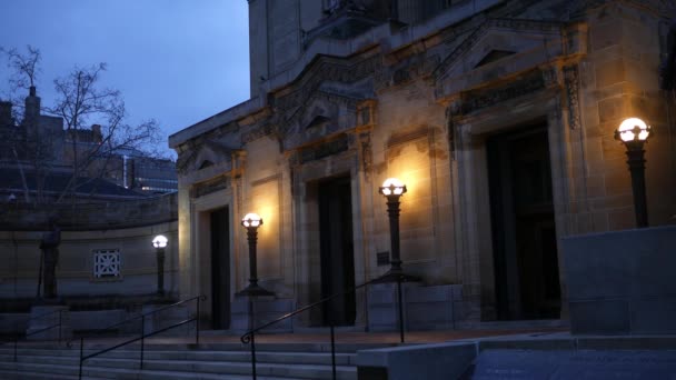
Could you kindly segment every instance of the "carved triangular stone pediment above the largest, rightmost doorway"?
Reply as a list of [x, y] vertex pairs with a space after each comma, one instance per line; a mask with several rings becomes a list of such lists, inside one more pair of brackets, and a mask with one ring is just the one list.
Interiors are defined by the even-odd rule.
[[557, 57], [583, 53], [583, 28], [577, 28], [549, 21], [487, 20], [435, 70], [437, 98], [533, 70]]

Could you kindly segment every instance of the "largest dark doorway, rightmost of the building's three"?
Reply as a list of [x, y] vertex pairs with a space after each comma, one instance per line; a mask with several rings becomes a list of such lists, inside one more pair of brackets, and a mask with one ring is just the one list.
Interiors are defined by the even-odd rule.
[[559, 318], [546, 126], [491, 137], [487, 152], [497, 318]]

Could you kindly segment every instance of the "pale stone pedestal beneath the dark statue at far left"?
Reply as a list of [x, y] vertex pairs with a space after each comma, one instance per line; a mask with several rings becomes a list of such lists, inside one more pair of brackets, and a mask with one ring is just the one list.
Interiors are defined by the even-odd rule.
[[30, 309], [26, 330], [28, 340], [66, 340], [72, 338], [67, 306], [37, 306]]

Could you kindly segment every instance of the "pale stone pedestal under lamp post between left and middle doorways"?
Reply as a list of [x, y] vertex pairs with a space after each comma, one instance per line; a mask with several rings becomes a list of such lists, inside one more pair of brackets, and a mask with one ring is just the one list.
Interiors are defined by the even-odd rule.
[[[230, 330], [246, 332], [294, 311], [294, 300], [274, 296], [236, 296], [231, 310]], [[264, 332], [292, 332], [292, 319], [275, 323]]]

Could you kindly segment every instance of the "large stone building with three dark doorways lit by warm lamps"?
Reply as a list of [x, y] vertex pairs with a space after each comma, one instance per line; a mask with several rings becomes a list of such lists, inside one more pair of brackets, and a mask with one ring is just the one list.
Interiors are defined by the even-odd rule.
[[[561, 239], [635, 227], [627, 117], [655, 132], [649, 223], [674, 223], [675, 17], [658, 0], [250, 0], [251, 99], [169, 139], [181, 298], [229, 326], [252, 211], [279, 299], [385, 273], [378, 187], [397, 177], [409, 318], [566, 320]], [[342, 302], [344, 324], [378, 318], [362, 292]]]

